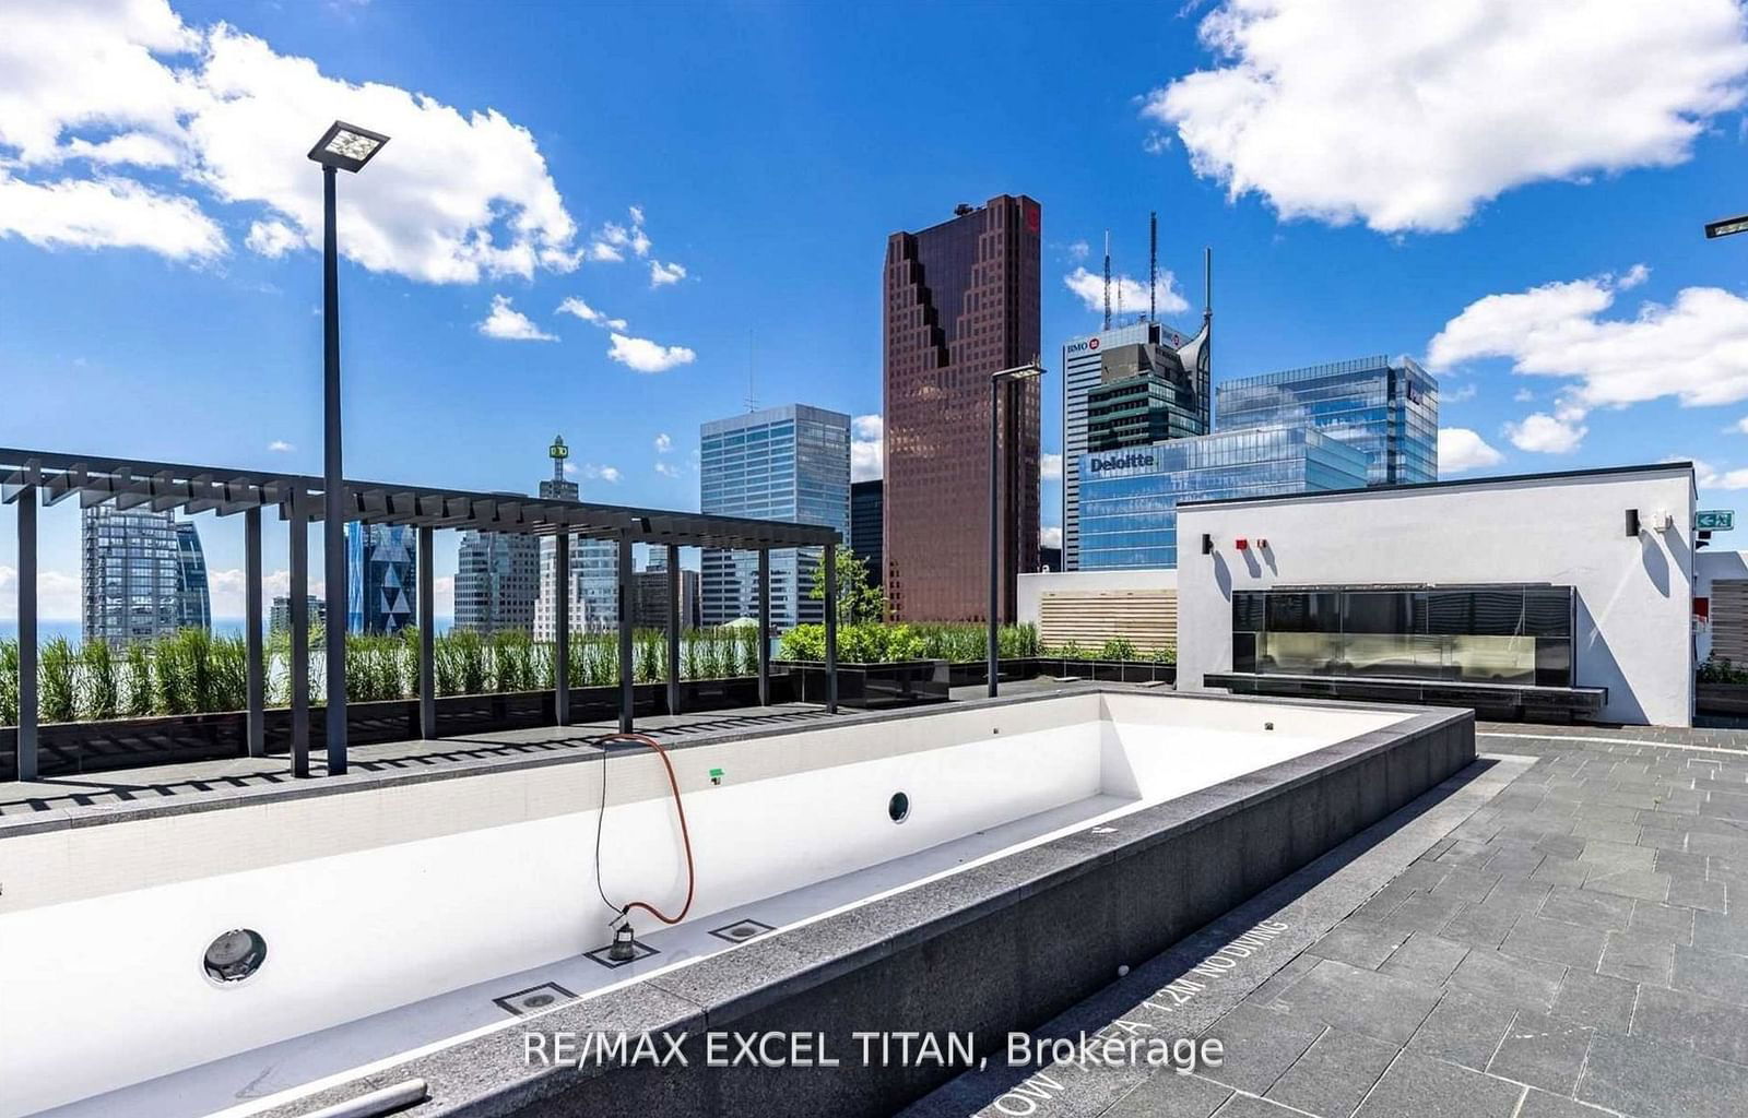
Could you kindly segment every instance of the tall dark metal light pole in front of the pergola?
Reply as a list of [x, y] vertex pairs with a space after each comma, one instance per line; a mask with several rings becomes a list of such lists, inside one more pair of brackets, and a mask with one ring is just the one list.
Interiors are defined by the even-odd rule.
[[[388, 136], [334, 121], [309, 157], [322, 164], [322, 556], [327, 587], [327, 763], [346, 772], [346, 501], [339, 447], [339, 246], [334, 236], [334, 173], [358, 171]], [[430, 562], [430, 557], [425, 559]]]

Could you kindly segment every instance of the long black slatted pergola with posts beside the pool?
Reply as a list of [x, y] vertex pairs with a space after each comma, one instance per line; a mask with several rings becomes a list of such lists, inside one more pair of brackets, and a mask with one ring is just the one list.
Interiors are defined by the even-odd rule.
[[[243, 514], [243, 566], [248, 646], [248, 755], [266, 756], [260, 601], [260, 514], [274, 508], [290, 526], [290, 685], [292, 685], [292, 772], [309, 776], [309, 543], [311, 522], [322, 521], [320, 477], [189, 466], [161, 461], [56, 454], [0, 447], [0, 503], [17, 505], [17, 634], [19, 716], [17, 776], [37, 779], [37, 505], [56, 505], [77, 496], [80, 508], [150, 507], [154, 512]], [[759, 702], [771, 699], [771, 549], [823, 547], [825, 599], [837, 599], [837, 531], [815, 524], [717, 517], [626, 505], [596, 505], [531, 498], [514, 493], [470, 493], [430, 486], [348, 480], [341, 494], [348, 521], [400, 524], [418, 529], [418, 625], [420, 625], [420, 732], [437, 735], [437, 706], [432, 667], [435, 634], [432, 592], [432, 535], [439, 528], [477, 529], [554, 538], [556, 671], [554, 711], [558, 725], [570, 725], [570, 540], [586, 536], [619, 543], [619, 727], [631, 730], [631, 545], [668, 549], [668, 709], [680, 709], [680, 549], [720, 547], [759, 552]], [[329, 624], [344, 624], [346, 587], [327, 589]], [[337, 606], [337, 608], [336, 608]], [[825, 707], [837, 711], [837, 611], [825, 610]], [[344, 772], [346, 730], [337, 721], [337, 741], [327, 741], [329, 770]]]

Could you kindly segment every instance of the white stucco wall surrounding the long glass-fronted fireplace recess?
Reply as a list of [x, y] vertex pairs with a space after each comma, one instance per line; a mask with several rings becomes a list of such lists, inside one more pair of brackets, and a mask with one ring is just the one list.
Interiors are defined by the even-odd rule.
[[[1666, 510], [1668, 531], [1626, 536]], [[1601, 718], [1692, 723], [1694, 475], [1488, 479], [1458, 486], [1259, 498], [1178, 512], [1178, 688], [1232, 669], [1232, 590], [1273, 585], [1547, 582], [1578, 596], [1575, 683]], [[1215, 550], [1201, 554], [1201, 536]], [[1238, 550], [1234, 540], [1250, 540]], [[1266, 549], [1257, 540], [1267, 540]]]

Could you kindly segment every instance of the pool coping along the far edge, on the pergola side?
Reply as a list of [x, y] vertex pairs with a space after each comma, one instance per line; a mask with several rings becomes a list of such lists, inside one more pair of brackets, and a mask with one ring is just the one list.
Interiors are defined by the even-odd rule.
[[[778, 725], [729, 727], [724, 730], [703, 730], [703, 732], [689, 730], [685, 737], [662, 741], [661, 744], [662, 749], [675, 753], [683, 749], [696, 749], [701, 746], [720, 746], [738, 741], [781, 739], [797, 734], [818, 734], [822, 730], [830, 730], [837, 727], [857, 727], [857, 725], [872, 725], [888, 721], [902, 723], [912, 718], [928, 718], [946, 713], [1023, 706], [1028, 702], [1047, 702], [1052, 699], [1092, 695], [1092, 694], [1138, 694], [1138, 695], [1169, 694], [1176, 699], [1255, 702], [1259, 706], [1306, 706], [1314, 709], [1363, 709], [1363, 711], [1386, 711], [1386, 713], [1388, 711], [1412, 713], [1425, 709], [1425, 707], [1409, 707], [1393, 704], [1327, 702], [1311, 699], [1295, 700], [1295, 699], [1224, 695], [1224, 694], [1201, 694], [1201, 692], [1161, 692], [1155, 687], [1141, 683], [1127, 685], [1127, 683], [1089, 681], [1051, 690], [1028, 690], [1026, 694], [1021, 695], [1000, 695], [995, 699], [986, 697], [972, 700], [954, 700], [951, 704], [935, 702], [935, 704], [923, 704], [891, 711], [839, 713], [823, 721], [788, 721]], [[400, 784], [423, 784], [430, 781], [453, 781], [470, 776], [516, 772], [523, 769], [573, 765], [600, 756], [600, 748], [586, 744], [587, 741], [612, 735], [610, 730], [598, 730], [594, 727], [551, 727], [551, 730], [554, 737], [573, 741], [575, 746], [566, 748], [563, 753], [551, 753], [542, 756], [486, 756], [486, 758], [467, 758], [467, 760], [444, 760], [440, 763], [427, 765], [416, 770], [407, 770], [407, 769], [388, 769], [388, 770], [369, 770], [369, 772], [355, 770], [344, 776], [308, 777], [280, 784], [175, 791], [173, 795], [159, 795], [150, 800], [138, 800], [128, 804], [89, 804], [77, 807], [52, 807], [30, 814], [23, 812], [0, 814], [0, 840], [14, 838], [19, 835], [40, 835], [44, 832], [72, 830], [80, 826], [133, 823], [140, 819], [156, 819], [164, 816], [225, 811], [234, 807], [257, 807], [262, 804], [281, 804], [281, 802], [306, 800], [315, 797], [346, 795], [353, 791], [374, 791]], [[444, 744], [456, 744], [468, 741], [472, 739], [456, 739], [456, 737], [439, 739], [430, 742], [432, 753], [440, 755]], [[201, 762], [196, 762], [196, 765], [199, 763]], [[126, 788], [128, 772], [117, 770], [84, 779], [94, 784], [93, 795], [100, 795], [105, 783], [114, 783], [119, 788]], [[201, 779], [224, 779], [224, 777], [191, 777], [191, 779], [199, 783]]]

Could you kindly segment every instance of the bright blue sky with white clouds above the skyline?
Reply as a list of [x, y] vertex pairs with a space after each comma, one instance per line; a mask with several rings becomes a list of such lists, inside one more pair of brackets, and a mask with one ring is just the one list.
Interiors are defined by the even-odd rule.
[[[750, 372], [760, 404], [879, 412], [888, 232], [1026, 192], [1052, 372], [1098, 325], [1065, 278], [1106, 229], [1143, 276], [1157, 210], [1168, 304], [1213, 246], [1217, 379], [1409, 353], [1446, 475], [1697, 458], [1729, 508], [1748, 238], [1699, 229], [1748, 210], [1741, 9], [1523, 7], [19, 0], [0, 445], [318, 472], [304, 152], [346, 115], [395, 133], [339, 183], [355, 477], [531, 489], [563, 431], [587, 498], [696, 507], [697, 424]], [[225, 613], [239, 526], [201, 528]], [[51, 510], [51, 617], [75, 538]]]

